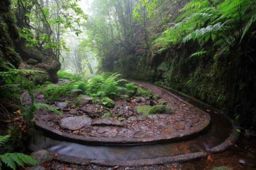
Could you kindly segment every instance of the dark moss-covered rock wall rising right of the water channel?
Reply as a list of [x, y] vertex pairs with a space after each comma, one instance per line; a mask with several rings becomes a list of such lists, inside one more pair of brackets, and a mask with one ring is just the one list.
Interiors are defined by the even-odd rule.
[[222, 109], [246, 127], [256, 127], [255, 38], [246, 54], [208, 45], [209, 53], [190, 57], [199, 46], [186, 43], [156, 54], [124, 55], [113, 63], [124, 78], [154, 82]]

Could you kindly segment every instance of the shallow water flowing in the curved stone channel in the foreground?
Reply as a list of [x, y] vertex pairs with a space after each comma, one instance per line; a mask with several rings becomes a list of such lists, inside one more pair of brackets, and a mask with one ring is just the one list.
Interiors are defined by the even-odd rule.
[[212, 125], [207, 133], [191, 140], [175, 143], [136, 146], [93, 146], [48, 139], [38, 135], [34, 138], [34, 144], [54, 153], [109, 160], [151, 159], [200, 151], [205, 152], [222, 143], [231, 133], [231, 125], [224, 116], [215, 113], [210, 113], [210, 116]]

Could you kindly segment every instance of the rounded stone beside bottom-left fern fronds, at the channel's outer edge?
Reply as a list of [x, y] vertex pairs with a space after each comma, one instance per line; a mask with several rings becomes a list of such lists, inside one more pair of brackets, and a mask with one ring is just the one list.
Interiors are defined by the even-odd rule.
[[34, 157], [39, 164], [51, 163], [53, 161], [53, 157], [46, 150], [38, 150], [36, 152], [32, 152], [30, 156]]

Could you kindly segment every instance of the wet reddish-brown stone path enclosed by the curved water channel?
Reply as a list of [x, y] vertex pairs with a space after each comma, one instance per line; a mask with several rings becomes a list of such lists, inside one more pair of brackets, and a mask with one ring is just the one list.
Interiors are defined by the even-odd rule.
[[[83, 104], [74, 108], [75, 100], [63, 98], [62, 101], [48, 102], [44, 95], [34, 92], [36, 103], [46, 103], [53, 106], [63, 114], [56, 114], [46, 109], [40, 109], [35, 115], [36, 122], [54, 128], [63, 133], [84, 136], [85, 139], [141, 139], [161, 140], [182, 137], [206, 128], [210, 122], [207, 113], [196, 107], [186, 105], [173, 98], [163, 90], [150, 84], [141, 84], [154, 91], [158, 100], [138, 98], [134, 96], [128, 99], [114, 99], [114, 108], [105, 108], [100, 104]], [[23, 103], [30, 104], [28, 93], [24, 94]], [[167, 102], [167, 107], [172, 110], [167, 114], [151, 114], [145, 116], [138, 112], [136, 107], [150, 105], [153, 101], [158, 104], [159, 100]], [[69, 102], [64, 102], [69, 101]], [[106, 113], [109, 113], [106, 116]]]

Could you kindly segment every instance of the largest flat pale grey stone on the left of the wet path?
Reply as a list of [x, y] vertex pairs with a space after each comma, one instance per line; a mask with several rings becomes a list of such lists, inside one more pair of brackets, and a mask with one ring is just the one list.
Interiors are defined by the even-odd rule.
[[89, 126], [92, 123], [92, 119], [87, 116], [74, 116], [66, 117], [59, 120], [59, 125], [62, 128], [69, 130], [79, 130], [84, 126]]

